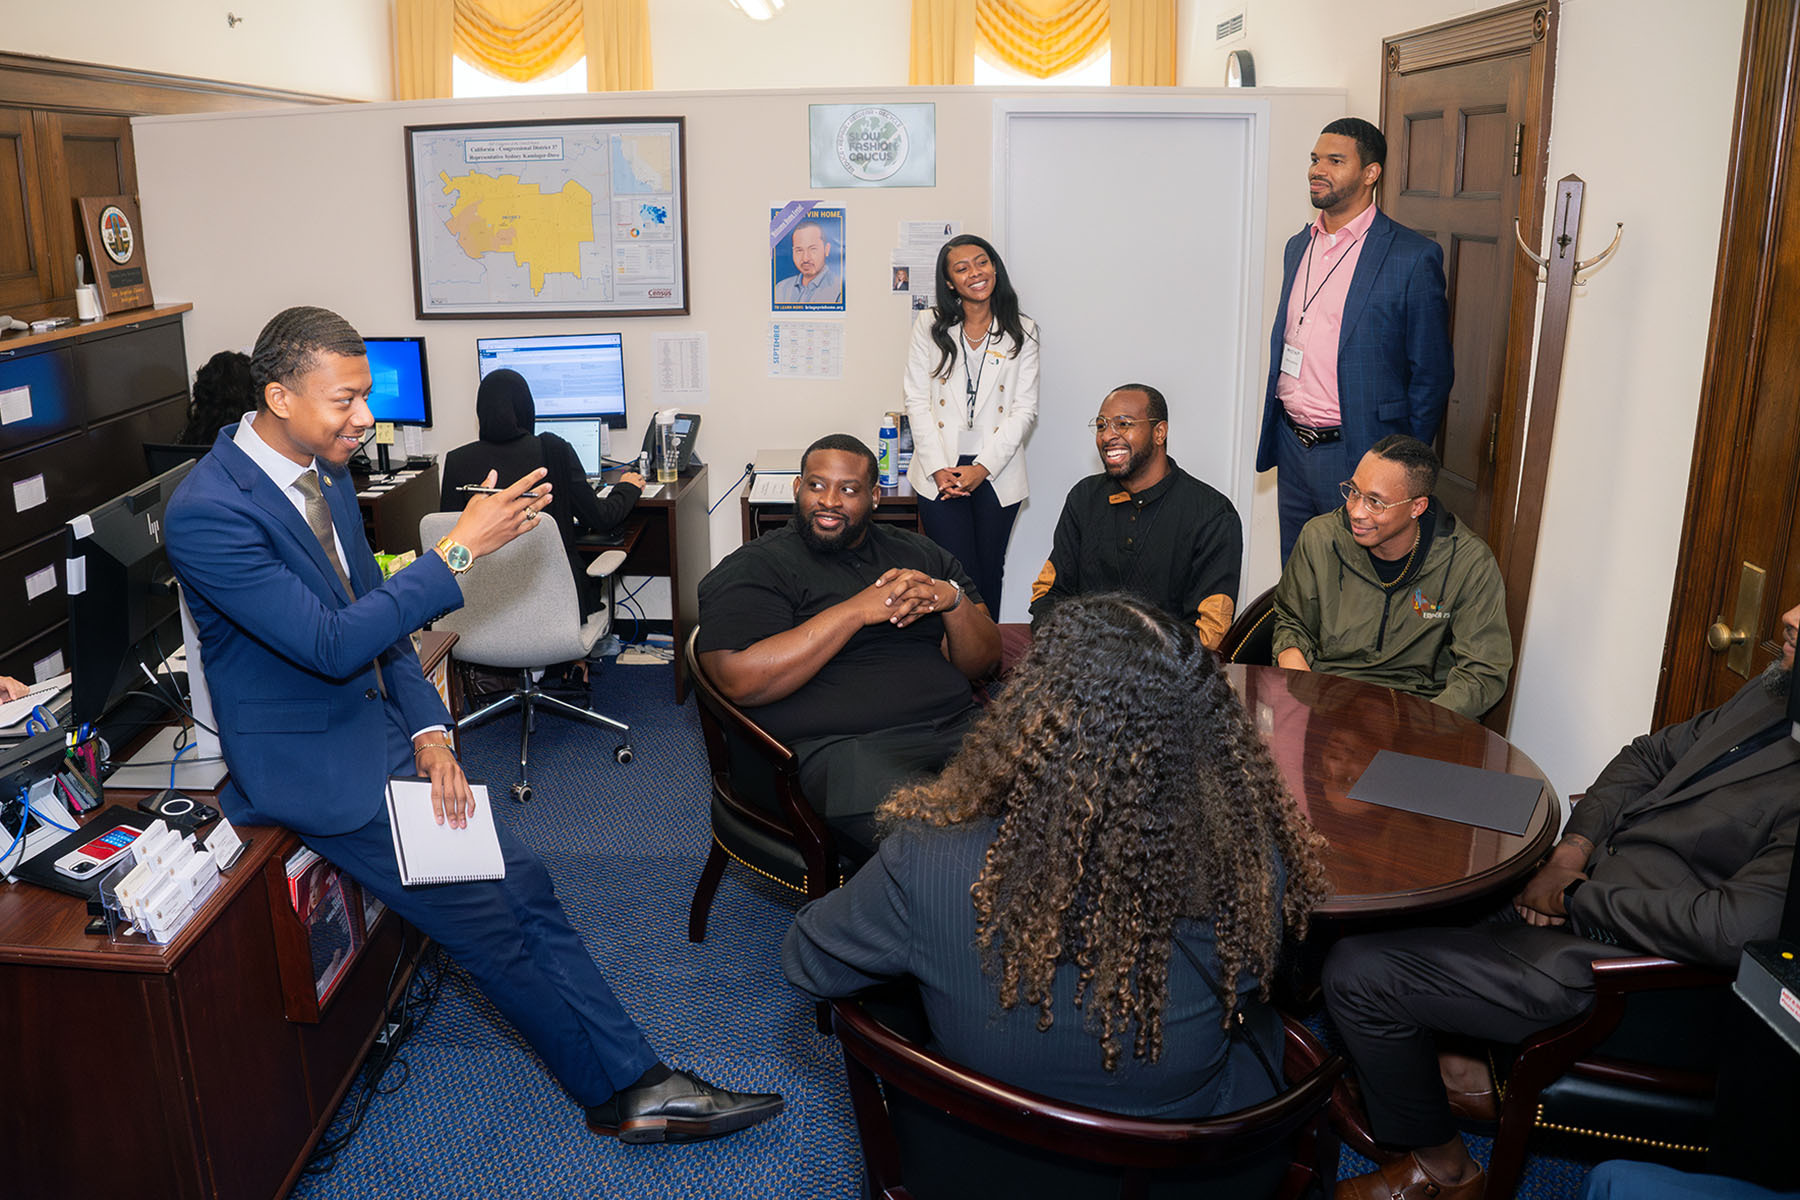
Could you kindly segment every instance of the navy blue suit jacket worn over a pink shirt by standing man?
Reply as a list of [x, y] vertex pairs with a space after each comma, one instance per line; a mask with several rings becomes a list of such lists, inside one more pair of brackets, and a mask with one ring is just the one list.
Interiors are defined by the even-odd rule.
[[[1307, 227], [1310, 228], [1310, 225]], [[1282, 304], [1269, 336], [1269, 389], [1262, 407], [1256, 470], [1274, 466], [1274, 439], [1282, 430], [1282, 333], [1287, 297], [1312, 236], [1307, 228], [1287, 239], [1282, 255]], [[1422, 443], [1438, 435], [1456, 367], [1451, 360], [1449, 300], [1444, 295], [1444, 250], [1438, 243], [1375, 212], [1363, 239], [1345, 318], [1337, 333], [1337, 407], [1343, 412], [1350, 468], [1388, 434], [1411, 434]]]

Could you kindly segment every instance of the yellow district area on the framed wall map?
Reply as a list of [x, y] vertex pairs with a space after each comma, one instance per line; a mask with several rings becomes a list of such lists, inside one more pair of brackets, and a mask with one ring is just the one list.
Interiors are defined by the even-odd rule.
[[479, 259], [484, 254], [511, 254], [513, 263], [531, 272], [531, 293], [544, 291], [551, 272], [581, 275], [581, 243], [594, 241], [594, 194], [569, 180], [562, 191], [545, 194], [536, 184], [522, 184], [517, 175], [437, 173], [443, 194], [459, 193], [445, 228]]

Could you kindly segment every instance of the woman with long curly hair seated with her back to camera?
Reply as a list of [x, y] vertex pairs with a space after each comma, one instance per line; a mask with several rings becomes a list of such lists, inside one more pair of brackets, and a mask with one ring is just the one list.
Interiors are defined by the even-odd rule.
[[918, 981], [932, 1045], [1134, 1115], [1274, 1094], [1283, 930], [1327, 896], [1319, 838], [1195, 628], [1123, 592], [1057, 606], [880, 853], [783, 945], [814, 997]]

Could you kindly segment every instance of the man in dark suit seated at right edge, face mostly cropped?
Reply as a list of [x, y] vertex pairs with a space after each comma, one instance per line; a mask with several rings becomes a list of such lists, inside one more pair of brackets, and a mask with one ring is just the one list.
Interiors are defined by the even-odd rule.
[[1454, 1128], [1494, 1114], [1487, 1065], [1438, 1056], [1433, 1033], [1521, 1042], [1593, 1004], [1598, 957], [1656, 954], [1733, 970], [1780, 927], [1800, 826], [1800, 745], [1782, 657], [1694, 720], [1636, 738], [1575, 806], [1510, 909], [1471, 928], [1348, 937], [1325, 959], [1325, 1004], [1363, 1079], [1377, 1141], [1409, 1150], [1345, 1180], [1339, 1200], [1476, 1200], [1485, 1178]]

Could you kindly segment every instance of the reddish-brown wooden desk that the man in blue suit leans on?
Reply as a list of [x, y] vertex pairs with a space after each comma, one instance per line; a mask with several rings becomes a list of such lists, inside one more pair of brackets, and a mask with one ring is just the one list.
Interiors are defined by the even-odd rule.
[[[455, 633], [421, 637], [439, 691]], [[108, 788], [108, 804], [144, 792]], [[425, 948], [385, 912], [326, 999], [288, 901], [301, 840], [248, 844], [167, 946], [85, 932], [86, 905], [0, 885], [0, 1029], [14, 1112], [0, 1123], [7, 1196], [284, 1196], [356, 1081]], [[299, 1013], [299, 1015], [297, 1015]]]

